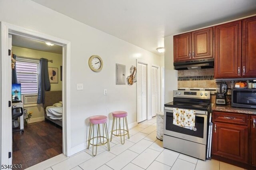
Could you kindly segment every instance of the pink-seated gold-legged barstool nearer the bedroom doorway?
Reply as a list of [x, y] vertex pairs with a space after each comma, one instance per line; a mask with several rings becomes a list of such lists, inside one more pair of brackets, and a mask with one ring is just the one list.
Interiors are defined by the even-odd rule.
[[[109, 140], [108, 140], [108, 128], [107, 128], [107, 121], [108, 117], [104, 115], [96, 115], [89, 118], [90, 121], [90, 130], [89, 130], [89, 139], [88, 139], [88, 146], [87, 149], [89, 149], [90, 145], [92, 145], [92, 155], [96, 156], [97, 154], [97, 147], [108, 144], [108, 150], [110, 150]], [[102, 124], [102, 130], [103, 135], [100, 135], [100, 124]], [[97, 128], [97, 137], [94, 137], [94, 125], [96, 125]], [[104, 131], [106, 136], [104, 136]], [[96, 138], [96, 144], [94, 144], [94, 138]], [[100, 142], [98, 143], [98, 138], [100, 139]], [[106, 139], [106, 142], [105, 142]], [[92, 143], [91, 143], [92, 140]], [[94, 146], [96, 146], [96, 152], [94, 154]]]

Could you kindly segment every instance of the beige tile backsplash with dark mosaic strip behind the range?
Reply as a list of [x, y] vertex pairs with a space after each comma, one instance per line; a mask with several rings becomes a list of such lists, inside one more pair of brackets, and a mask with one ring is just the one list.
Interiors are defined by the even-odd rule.
[[179, 70], [178, 88], [182, 87], [214, 87], [214, 69]]

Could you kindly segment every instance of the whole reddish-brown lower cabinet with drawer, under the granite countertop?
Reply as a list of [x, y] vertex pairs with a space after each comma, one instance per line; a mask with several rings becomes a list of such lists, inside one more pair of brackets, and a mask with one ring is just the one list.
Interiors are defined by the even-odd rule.
[[256, 115], [213, 111], [212, 158], [256, 170]]

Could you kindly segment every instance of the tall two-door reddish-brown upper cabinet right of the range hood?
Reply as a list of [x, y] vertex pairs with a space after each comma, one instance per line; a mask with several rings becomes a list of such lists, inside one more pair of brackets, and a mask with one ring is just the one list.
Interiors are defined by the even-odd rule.
[[216, 26], [214, 77], [256, 77], [256, 16]]

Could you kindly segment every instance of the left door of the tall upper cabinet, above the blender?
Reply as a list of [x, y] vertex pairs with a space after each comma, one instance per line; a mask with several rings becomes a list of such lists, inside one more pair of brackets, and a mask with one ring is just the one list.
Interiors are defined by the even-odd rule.
[[215, 78], [241, 76], [242, 21], [216, 26]]

